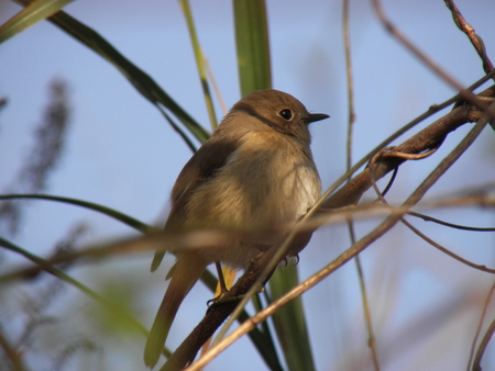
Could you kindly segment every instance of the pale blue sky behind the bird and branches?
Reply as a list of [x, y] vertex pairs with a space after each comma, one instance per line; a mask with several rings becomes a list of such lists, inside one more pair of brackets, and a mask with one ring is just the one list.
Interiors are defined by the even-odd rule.
[[[488, 54], [495, 58], [495, 2], [463, 0], [457, 3], [484, 37]], [[20, 9], [6, 0], [0, 4], [2, 23]], [[461, 83], [471, 85], [483, 76], [475, 52], [454, 26], [443, 1], [384, 1], [384, 7], [394, 23]], [[240, 98], [231, 3], [191, 1], [191, 9], [205, 54], [223, 99], [231, 106]], [[323, 186], [328, 187], [344, 169], [346, 92], [341, 4], [339, 1], [294, 1], [289, 5], [274, 0], [267, 1], [267, 10], [274, 88], [294, 94], [312, 112], [331, 115], [330, 120], [312, 127], [315, 158]], [[87, 0], [69, 4], [66, 11], [107, 37], [197, 121], [207, 124], [178, 2]], [[370, 1], [352, 2], [351, 15], [358, 114], [354, 159], [359, 159], [430, 104], [442, 102], [454, 91], [387, 34], [377, 23]], [[46, 104], [50, 81], [59, 78], [69, 86], [73, 116], [64, 158], [50, 179], [47, 192], [98, 202], [147, 223], [166, 216], [169, 190], [190, 157], [190, 150], [160, 112], [110, 64], [47, 22], [6, 42], [0, 58], [0, 94], [9, 99], [9, 105], [0, 115], [2, 187], [14, 177], [32, 143], [31, 133]], [[222, 116], [219, 106], [217, 116]], [[466, 125], [449, 137], [431, 159], [404, 166], [391, 199], [402, 200], [414, 190], [468, 130]], [[494, 145], [493, 133], [485, 131], [480, 143], [435, 186], [430, 198], [495, 181]], [[471, 225], [494, 224], [493, 213], [487, 211], [441, 211], [436, 215]], [[85, 239], [87, 244], [131, 233], [119, 223], [89, 211], [33, 202], [14, 240], [44, 255], [51, 251], [63, 231], [79, 221], [91, 227]], [[359, 236], [374, 225], [362, 223], [358, 228]], [[463, 257], [493, 267], [493, 234], [458, 233], [420, 222], [416, 225]], [[348, 246], [344, 228], [329, 227], [317, 233], [300, 256], [301, 277], [309, 277]], [[10, 255], [8, 259], [23, 261]], [[143, 290], [143, 302], [136, 305], [141, 311], [140, 318], [148, 326], [162, 300], [166, 272], [163, 267], [160, 272], [150, 274], [150, 261], [151, 254], [140, 255], [132, 259], [116, 259], [109, 265], [113, 268], [111, 274], [105, 273], [103, 266], [77, 269], [74, 274], [96, 290], [99, 279], [113, 274], [116, 279], [125, 278], [148, 289]], [[437, 252], [404, 227], [397, 227], [394, 234], [371, 246], [363, 255], [363, 262], [373, 297], [383, 370], [464, 369], [480, 312], [480, 306], [470, 306], [466, 297], [473, 286], [481, 289], [476, 294], [487, 292], [490, 277], [473, 273]], [[89, 305], [89, 300], [80, 299], [81, 294], [74, 292], [70, 296], [76, 297], [76, 306]], [[202, 288], [195, 288], [184, 302], [170, 333], [173, 346], [178, 345], [199, 321], [210, 296]], [[343, 267], [304, 299], [318, 370], [371, 369], [360, 363], [366, 357], [366, 338], [353, 265]], [[460, 308], [459, 317], [449, 323], [450, 313], [444, 311], [441, 319], [446, 319], [446, 326], [437, 321], [438, 327], [431, 326], [432, 331], [427, 338], [407, 342], [407, 337], [414, 335], [404, 330], [415, 318], [429, 308], [437, 308], [439, 302], [462, 300], [466, 300], [468, 308]], [[493, 306], [490, 314], [491, 321]], [[409, 351], [400, 348], [399, 340], [405, 341]], [[123, 358], [128, 362], [129, 370], [144, 369], [141, 362], [144, 339], [121, 341], [112, 344], [119, 349], [120, 360]], [[444, 351], [444, 356], [436, 357], [433, 351], [440, 355]], [[116, 357], [110, 359], [114, 361]], [[495, 362], [493, 351], [491, 360]], [[209, 370], [224, 370], [232, 362], [239, 362], [237, 370], [264, 369], [245, 339], [227, 350]], [[84, 364], [77, 359], [69, 369], [80, 370]]]

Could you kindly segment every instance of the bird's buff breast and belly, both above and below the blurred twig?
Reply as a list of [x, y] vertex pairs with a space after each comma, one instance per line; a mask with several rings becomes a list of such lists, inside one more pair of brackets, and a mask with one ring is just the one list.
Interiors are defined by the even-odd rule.
[[309, 148], [280, 133], [252, 132], [191, 192], [182, 227], [240, 232], [228, 245], [198, 252], [206, 261], [243, 267], [277, 244], [286, 234], [280, 227], [294, 224], [320, 193]]

